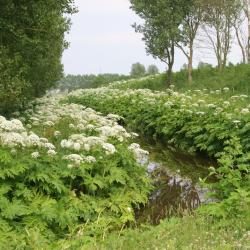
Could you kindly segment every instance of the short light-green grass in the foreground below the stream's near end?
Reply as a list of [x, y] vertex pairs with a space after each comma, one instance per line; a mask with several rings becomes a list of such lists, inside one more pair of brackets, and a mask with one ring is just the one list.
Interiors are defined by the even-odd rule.
[[[209, 218], [186, 215], [171, 218], [158, 226], [142, 226], [111, 234], [103, 241], [83, 249], [96, 250], [233, 250], [249, 249], [250, 234], [243, 221], [228, 221], [228, 225], [214, 224]], [[248, 228], [249, 229], [249, 228]]]

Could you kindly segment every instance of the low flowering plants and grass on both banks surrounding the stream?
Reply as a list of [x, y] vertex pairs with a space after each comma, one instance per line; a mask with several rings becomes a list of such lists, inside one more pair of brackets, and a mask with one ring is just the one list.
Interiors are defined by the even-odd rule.
[[[130, 83], [47, 95], [0, 117], [1, 249], [249, 248], [249, 96], [124, 91]], [[199, 180], [213, 202], [137, 222], [153, 189], [138, 134], [215, 160], [216, 181]]]

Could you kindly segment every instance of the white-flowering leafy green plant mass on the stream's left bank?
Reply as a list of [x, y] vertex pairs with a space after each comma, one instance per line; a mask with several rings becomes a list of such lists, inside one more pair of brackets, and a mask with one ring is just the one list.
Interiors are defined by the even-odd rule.
[[119, 116], [59, 99], [37, 100], [19, 119], [0, 116], [1, 249], [78, 249], [133, 223], [147, 201], [136, 135]]

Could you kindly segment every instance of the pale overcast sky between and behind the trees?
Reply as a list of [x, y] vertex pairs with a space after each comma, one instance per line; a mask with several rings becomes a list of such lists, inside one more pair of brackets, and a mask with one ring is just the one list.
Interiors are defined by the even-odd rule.
[[[155, 64], [164, 71], [166, 65], [147, 55], [141, 34], [135, 33], [132, 24], [140, 18], [130, 9], [129, 0], [75, 0], [79, 12], [74, 14], [72, 27], [66, 40], [70, 47], [62, 58], [65, 74], [129, 74], [136, 62], [146, 67]], [[194, 65], [204, 58], [196, 53]], [[239, 59], [234, 50], [230, 60]], [[209, 63], [215, 59], [207, 56]], [[177, 51], [174, 70], [186, 63], [186, 57]]]

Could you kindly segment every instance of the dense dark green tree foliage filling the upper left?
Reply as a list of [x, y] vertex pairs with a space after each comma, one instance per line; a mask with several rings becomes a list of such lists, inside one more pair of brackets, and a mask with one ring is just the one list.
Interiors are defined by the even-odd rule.
[[0, 114], [24, 107], [62, 77], [73, 1], [1, 1]]

